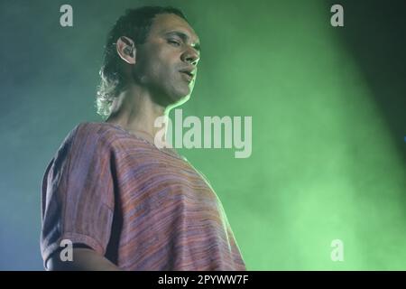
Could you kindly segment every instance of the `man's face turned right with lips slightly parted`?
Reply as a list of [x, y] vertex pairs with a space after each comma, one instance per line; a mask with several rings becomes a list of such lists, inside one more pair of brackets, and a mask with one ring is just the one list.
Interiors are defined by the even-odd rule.
[[176, 14], [158, 14], [146, 41], [137, 45], [134, 77], [162, 106], [184, 102], [198, 71], [198, 35]]

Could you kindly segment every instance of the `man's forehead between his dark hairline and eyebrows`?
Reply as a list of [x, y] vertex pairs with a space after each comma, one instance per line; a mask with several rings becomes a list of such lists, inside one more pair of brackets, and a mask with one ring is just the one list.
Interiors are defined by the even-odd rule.
[[170, 32], [180, 32], [186, 34], [190, 42], [198, 43], [198, 35], [183, 18], [176, 14], [158, 14], [153, 19], [150, 35], [163, 35]]

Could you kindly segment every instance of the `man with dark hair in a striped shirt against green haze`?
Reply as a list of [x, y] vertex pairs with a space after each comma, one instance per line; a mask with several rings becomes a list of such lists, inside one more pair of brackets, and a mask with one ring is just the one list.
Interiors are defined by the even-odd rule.
[[[157, 117], [189, 99], [198, 60], [198, 36], [177, 9], [128, 10], [115, 23], [97, 97], [106, 122], [76, 126], [43, 178], [47, 269], [245, 270], [216, 193], [155, 137]], [[61, 258], [64, 240], [72, 261]]]

